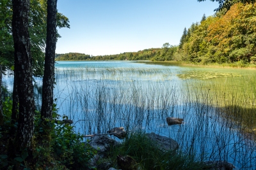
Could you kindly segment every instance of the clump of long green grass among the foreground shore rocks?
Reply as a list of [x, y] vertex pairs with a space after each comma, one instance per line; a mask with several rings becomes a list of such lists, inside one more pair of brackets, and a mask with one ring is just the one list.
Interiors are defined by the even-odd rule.
[[137, 162], [137, 169], [203, 169], [204, 164], [182, 152], [162, 152], [144, 132], [133, 132], [122, 145], [113, 149], [111, 159], [118, 168], [117, 155], [129, 155]]

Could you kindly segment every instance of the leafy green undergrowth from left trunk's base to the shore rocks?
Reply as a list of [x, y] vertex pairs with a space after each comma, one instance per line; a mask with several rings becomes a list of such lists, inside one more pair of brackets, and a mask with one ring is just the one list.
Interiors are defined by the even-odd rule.
[[[36, 113], [36, 167], [43, 169], [56, 169], [56, 167], [58, 167], [57, 169], [89, 169], [89, 160], [95, 155], [95, 150], [88, 145], [88, 142], [83, 142], [83, 136], [74, 131], [74, 126], [68, 123], [63, 124], [63, 122], [56, 124], [55, 120], [60, 117], [56, 111], [54, 105], [53, 120], [48, 120], [44, 124], [41, 122], [40, 113]], [[67, 119], [67, 117], [63, 116], [63, 119]], [[48, 129], [45, 129], [44, 126]], [[51, 131], [51, 135], [41, 136], [40, 132], [43, 131]]]

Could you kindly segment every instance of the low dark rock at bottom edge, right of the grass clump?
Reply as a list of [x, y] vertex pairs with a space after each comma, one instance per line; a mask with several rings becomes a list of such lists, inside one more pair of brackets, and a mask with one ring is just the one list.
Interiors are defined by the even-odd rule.
[[235, 168], [232, 164], [225, 160], [213, 160], [204, 162], [207, 169], [210, 170], [232, 170]]

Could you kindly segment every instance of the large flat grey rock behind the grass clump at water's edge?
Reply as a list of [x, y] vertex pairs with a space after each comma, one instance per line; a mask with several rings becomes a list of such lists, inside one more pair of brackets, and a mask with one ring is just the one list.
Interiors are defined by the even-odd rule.
[[156, 142], [156, 145], [158, 146], [159, 150], [163, 152], [167, 151], [175, 151], [179, 148], [179, 144], [177, 141], [173, 140], [172, 138], [168, 138], [165, 136], [160, 136], [158, 134], [155, 134], [154, 132], [151, 132], [150, 134], [146, 134], [149, 139]]

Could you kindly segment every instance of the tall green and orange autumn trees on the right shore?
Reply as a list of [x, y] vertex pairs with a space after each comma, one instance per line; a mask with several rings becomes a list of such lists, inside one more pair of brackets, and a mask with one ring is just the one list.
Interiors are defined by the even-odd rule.
[[256, 64], [255, 4], [235, 3], [184, 29], [175, 60]]

